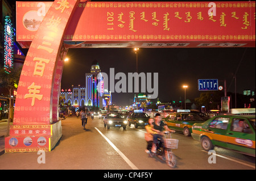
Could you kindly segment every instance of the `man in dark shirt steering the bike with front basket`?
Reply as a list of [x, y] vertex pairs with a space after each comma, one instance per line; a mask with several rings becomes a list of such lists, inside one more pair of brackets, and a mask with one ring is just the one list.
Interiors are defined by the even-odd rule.
[[156, 144], [158, 142], [158, 139], [160, 139], [161, 142], [163, 142], [163, 131], [169, 131], [171, 133], [174, 133], [175, 131], [172, 131], [171, 129], [168, 128], [167, 124], [164, 124], [164, 122], [162, 121], [162, 117], [160, 116], [159, 113], [155, 114], [155, 122], [152, 123], [152, 131], [157, 132], [158, 134], [153, 134], [153, 146], [151, 151], [153, 153], [156, 153]]

